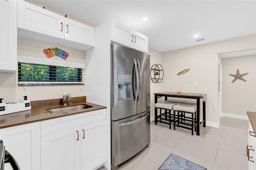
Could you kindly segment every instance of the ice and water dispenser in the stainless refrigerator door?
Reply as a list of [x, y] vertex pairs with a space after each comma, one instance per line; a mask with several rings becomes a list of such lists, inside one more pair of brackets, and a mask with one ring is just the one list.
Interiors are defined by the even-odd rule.
[[131, 99], [131, 75], [118, 74], [118, 100]]

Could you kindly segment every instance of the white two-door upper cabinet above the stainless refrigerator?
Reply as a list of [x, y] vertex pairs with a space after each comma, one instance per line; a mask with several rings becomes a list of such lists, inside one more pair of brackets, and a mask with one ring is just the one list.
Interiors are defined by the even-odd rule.
[[111, 40], [139, 51], [148, 52], [148, 37], [111, 20]]

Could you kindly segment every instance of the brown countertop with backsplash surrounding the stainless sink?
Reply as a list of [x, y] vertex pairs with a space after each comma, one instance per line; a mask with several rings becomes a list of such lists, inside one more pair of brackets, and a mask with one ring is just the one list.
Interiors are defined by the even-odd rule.
[[[78, 97], [79, 98], [79, 97]], [[81, 97], [80, 97], [81, 98]], [[82, 98], [86, 99], [86, 98]], [[6, 115], [0, 116], [0, 129], [1, 128], [7, 128], [7, 127], [13, 127], [17, 125], [24, 125], [27, 123], [33, 123], [38, 121], [45, 121], [48, 119], [54, 119], [58, 117], [64, 117], [69, 115], [75, 115], [79, 113], [85, 113], [100, 109], [106, 109], [106, 107], [101, 105], [96, 105], [94, 103], [88, 103], [85, 100], [73, 100], [72, 102], [68, 103], [67, 106], [62, 105], [62, 99], [53, 99], [55, 102], [52, 102], [52, 100], [45, 100], [43, 103], [38, 101], [31, 101], [31, 110], [28, 111], [22, 111], [22, 112], [16, 112], [16, 113], [10, 113]], [[62, 101], [61, 101], [62, 100]], [[79, 111], [70, 111], [66, 113], [49, 113], [46, 111], [46, 109], [55, 109], [60, 107], [69, 107], [74, 105], [90, 105], [91, 108], [82, 109]]]

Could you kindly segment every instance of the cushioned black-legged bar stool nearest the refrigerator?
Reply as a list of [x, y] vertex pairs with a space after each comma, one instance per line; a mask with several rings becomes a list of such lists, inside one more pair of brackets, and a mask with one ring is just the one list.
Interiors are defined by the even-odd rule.
[[[173, 116], [173, 118], [171, 117], [171, 110], [173, 109], [174, 105], [175, 104], [172, 104], [172, 103], [162, 103], [162, 102], [155, 104], [155, 118], [157, 119], [156, 125], [157, 125], [157, 122], [165, 123], [167, 125], [170, 125], [170, 129], [171, 129], [171, 122], [173, 122], [173, 128], [175, 130], [175, 123], [177, 121], [175, 121], [175, 116]], [[160, 109], [160, 115], [157, 115], [157, 109]], [[162, 109], [165, 110], [164, 113], [162, 113]], [[168, 114], [168, 119], [167, 119], [167, 114]], [[165, 118], [162, 118], [162, 116], [164, 116]], [[158, 118], [160, 118], [160, 120], [158, 120]], [[169, 121], [169, 122], [165, 122], [162, 120]]]

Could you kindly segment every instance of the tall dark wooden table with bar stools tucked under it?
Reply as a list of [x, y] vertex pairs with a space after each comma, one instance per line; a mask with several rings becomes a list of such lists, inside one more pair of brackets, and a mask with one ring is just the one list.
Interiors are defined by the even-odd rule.
[[[203, 124], [203, 127], [206, 127], [206, 108], [205, 108], [205, 101], [207, 100], [206, 94], [196, 94], [196, 93], [181, 93], [177, 94], [174, 92], [164, 92], [164, 93], [154, 93], [155, 95], [155, 103], [157, 103], [157, 99], [159, 97], [178, 97], [178, 98], [186, 98], [186, 99], [196, 99], [196, 135], [200, 135], [200, 125]], [[200, 99], [203, 99], [203, 121], [200, 122]], [[155, 109], [156, 113], [156, 109]], [[157, 114], [155, 114], [155, 123], [157, 123]]]

